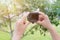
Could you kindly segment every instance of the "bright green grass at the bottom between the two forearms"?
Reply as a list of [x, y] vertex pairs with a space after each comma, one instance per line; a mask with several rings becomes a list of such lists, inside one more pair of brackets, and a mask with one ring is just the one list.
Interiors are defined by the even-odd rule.
[[52, 40], [52, 39], [51, 39], [49, 33], [47, 33], [46, 36], [43, 36], [38, 31], [38, 32], [35, 32], [33, 35], [32, 34], [28, 34], [22, 40]]

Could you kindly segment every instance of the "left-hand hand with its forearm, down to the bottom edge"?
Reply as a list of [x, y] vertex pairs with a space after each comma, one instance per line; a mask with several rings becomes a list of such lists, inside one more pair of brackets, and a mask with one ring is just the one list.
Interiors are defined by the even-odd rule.
[[12, 40], [21, 40], [21, 37], [23, 36], [23, 33], [29, 24], [29, 22], [26, 21], [26, 17], [28, 16], [28, 14], [28, 12], [24, 13], [23, 17], [16, 22]]

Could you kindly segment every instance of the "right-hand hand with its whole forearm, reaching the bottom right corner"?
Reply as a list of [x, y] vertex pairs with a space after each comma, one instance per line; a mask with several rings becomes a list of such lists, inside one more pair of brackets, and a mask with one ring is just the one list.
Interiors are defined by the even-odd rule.
[[52, 26], [46, 14], [40, 12], [39, 20], [37, 23], [41, 24], [42, 26], [44, 26], [45, 28], [49, 30], [53, 40], [60, 40], [60, 35], [56, 31], [56, 29]]

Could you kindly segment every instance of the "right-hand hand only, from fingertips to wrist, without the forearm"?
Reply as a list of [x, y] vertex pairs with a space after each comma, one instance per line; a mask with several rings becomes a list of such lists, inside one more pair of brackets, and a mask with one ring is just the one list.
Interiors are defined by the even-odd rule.
[[48, 18], [48, 16], [42, 12], [39, 12], [39, 20], [37, 21], [37, 23], [41, 24], [42, 26], [44, 26], [47, 29], [50, 29], [52, 27], [50, 20]]

